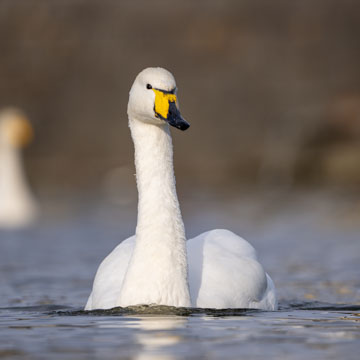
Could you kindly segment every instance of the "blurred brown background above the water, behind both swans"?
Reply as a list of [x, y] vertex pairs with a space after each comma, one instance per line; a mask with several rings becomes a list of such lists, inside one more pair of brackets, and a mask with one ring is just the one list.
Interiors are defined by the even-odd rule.
[[0, 107], [35, 127], [39, 194], [96, 192], [114, 168], [133, 182], [128, 92], [162, 66], [192, 125], [173, 131], [180, 187], [358, 191], [359, 37], [351, 0], [2, 0]]

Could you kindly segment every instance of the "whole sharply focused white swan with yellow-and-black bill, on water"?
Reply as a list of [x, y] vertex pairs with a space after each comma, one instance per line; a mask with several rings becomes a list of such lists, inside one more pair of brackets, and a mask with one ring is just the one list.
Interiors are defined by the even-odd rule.
[[207, 308], [277, 308], [271, 278], [254, 248], [228, 230], [185, 239], [175, 189], [168, 124], [186, 130], [175, 79], [143, 70], [128, 103], [139, 192], [136, 235], [101, 263], [85, 310], [160, 304]]

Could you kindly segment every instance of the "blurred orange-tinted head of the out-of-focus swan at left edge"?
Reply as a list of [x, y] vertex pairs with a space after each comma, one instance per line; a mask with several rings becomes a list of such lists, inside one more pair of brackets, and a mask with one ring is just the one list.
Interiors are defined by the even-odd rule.
[[15, 148], [28, 145], [34, 133], [25, 114], [18, 109], [5, 109], [0, 113], [0, 143]]

